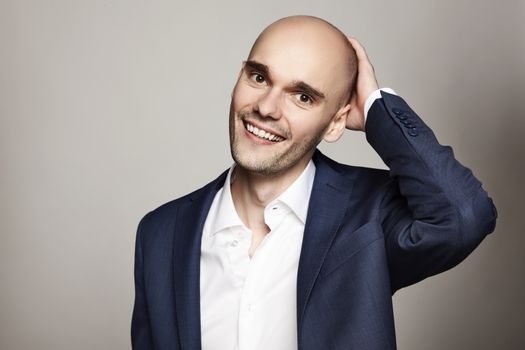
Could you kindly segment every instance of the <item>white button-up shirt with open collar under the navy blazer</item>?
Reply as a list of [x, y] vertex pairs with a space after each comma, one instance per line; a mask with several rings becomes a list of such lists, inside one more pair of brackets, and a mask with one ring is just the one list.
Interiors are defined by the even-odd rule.
[[264, 209], [270, 232], [250, 259], [252, 232], [235, 210], [230, 183], [217, 192], [201, 245], [203, 350], [297, 349], [297, 269], [315, 176], [303, 173]]

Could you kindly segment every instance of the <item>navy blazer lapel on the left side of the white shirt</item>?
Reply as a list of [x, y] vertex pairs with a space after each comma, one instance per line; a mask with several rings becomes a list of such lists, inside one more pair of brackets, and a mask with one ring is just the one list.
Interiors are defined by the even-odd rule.
[[175, 312], [182, 349], [201, 349], [200, 249], [202, 229], [227, 171], [190, 195], [177, 213], [173, 239]]

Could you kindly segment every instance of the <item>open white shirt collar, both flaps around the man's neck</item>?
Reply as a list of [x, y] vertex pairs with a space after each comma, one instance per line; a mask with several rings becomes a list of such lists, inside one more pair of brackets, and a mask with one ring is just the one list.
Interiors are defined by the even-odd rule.
[[[235, 210], [231, 194], [231, 175], [234, 168], [235, 163], [230, 167], [224, 185], [217, 193], [219, 196], [218, 206], [210, 230], [210, 235], [212, 236], [229, 227], [245, 227]], [[284, 203], [294, 212], [304, 225], [308, 213], [308, 203], [310, 201], [310, 194], [314, 184], [314, 177], [315, 164], [310, 159], [301, 175], [283, 193], [281, 193], [280, 196], [270, 202], [267, 207], [278, 202]]]

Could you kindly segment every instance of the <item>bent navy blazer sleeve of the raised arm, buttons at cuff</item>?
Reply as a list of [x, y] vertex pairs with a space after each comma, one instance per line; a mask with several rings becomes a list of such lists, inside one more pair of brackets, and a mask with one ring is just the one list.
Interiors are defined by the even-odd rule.
[[366, 137], [390, 169], [380, 209], [392, 293], [445, 271], [492, 232], [492, 200], [399, 96], [381, 92]]

